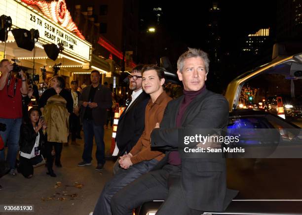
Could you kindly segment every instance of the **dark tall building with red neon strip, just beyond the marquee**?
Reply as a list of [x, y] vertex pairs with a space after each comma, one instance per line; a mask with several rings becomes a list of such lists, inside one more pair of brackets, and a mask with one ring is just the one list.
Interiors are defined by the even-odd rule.
[[102, 82], [123, 85], [126, 74], [122, 72], [135, 66], [133, 59], [137, 55], [138, 0], [66, 1], [79, 29], [92, 43], [93, 55], [110, 65]]

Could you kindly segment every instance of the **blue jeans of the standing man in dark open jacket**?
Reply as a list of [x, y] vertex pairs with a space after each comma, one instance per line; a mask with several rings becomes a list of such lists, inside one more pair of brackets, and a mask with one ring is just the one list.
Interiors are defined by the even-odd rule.
[[90, 163], [92, 160], [91, 153], [93, 147], [93, 136], [97, 145], [95, 157], [98, 164], [105, 164], [105, 143], [104, 143], [104, 125], [97, 126], [93, 120], [83, 120], [84, 130], [84, 151], [82, 155], [83, 161]]

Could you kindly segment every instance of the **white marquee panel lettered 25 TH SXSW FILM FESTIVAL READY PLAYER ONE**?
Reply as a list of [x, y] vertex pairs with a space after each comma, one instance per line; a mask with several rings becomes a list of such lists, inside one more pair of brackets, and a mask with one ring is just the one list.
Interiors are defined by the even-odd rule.
[[37, 10], [18, 0], [0, 0], [0, 14], [10, 16], [12, 24], [18, 28], [39, 31], [41, 43], [63, 43], [64, 52], [78, 59], [90, 61], [91, 44], [81, 40]]

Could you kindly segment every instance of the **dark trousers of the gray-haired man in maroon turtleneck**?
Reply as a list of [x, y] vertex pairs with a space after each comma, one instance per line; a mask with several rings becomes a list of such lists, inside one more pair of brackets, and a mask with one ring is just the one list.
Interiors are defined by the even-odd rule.
[[181, 167], [173, 165], [140, 176], [112, 197], [113, 215], [132, 215], [132, 209], [152, 200], [165, 200], [156, 215], [201, 215], [187, 206], [180, 176]]

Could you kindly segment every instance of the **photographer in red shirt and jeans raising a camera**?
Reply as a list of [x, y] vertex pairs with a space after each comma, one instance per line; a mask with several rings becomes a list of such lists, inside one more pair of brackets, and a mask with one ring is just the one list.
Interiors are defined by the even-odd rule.
[[[19, 72], [16, 72], [18, 70]], [[27, 95], [28, 86], [22, 69], [16, 64], [11, 64], [9, 60], [0, 61], [0, 72], [0, 123], [6, 124], [6, 130], [0, 131], [0, 135], [4, 144], [8, 146], [6, 162], [10, 169], [9, 173], [16, 175], [15, 163], [22, 123], [22, 95]], [[7, 140], [9, 141], [6, 143]], [[2, 150], [0, 159], [4, 160], [4, 157]]]

